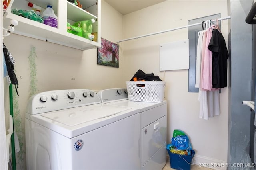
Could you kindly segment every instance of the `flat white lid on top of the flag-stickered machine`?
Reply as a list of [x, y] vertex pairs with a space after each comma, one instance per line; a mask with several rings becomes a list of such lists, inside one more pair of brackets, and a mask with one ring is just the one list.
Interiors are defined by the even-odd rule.
[[111, 115], [115, 115], [122, 111], [131, 109], [130, 107], [101, 105], [75, 107], [72, 109], [65, 109], [44, 113], [41, 116], [51, 119], [54, 122], [62, 123], [67, 126], [75, 126], [96, 119], [102, 119]]

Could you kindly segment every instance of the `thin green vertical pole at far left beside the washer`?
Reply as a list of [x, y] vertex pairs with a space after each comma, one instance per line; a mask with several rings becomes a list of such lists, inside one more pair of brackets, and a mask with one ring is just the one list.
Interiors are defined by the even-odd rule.
[[[12, 145], [12, 169], [16, 170], [16, 158], [15, 158], [15, 142], [14, 142], [14, 117], [13, 117], [13, 102], [12, 102], [12, 84], [9, 86], [9, 100], [10, 100], [10, 115], [12, 116], [12, 129], [13, 133], [11, 136]], [[7, 150], [7, 152], [9, 152]]]

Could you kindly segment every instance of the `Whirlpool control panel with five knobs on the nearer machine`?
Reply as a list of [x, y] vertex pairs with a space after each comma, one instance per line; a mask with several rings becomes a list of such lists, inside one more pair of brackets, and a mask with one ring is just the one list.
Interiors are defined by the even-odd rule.
[[26, 113], [38, 114], [98, 103], [101, 103], [100, 98], [93, 90], [53, 90], [31, 96]]

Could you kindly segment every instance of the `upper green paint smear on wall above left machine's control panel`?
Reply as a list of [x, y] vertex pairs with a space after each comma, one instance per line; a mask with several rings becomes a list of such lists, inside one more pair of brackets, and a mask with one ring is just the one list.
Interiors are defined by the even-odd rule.
[[36, 48], [34, 46], [31, 47], [30, 55], [28, 56], [28, 64], [30, 70], [30, 85], [29, 85], [29, 97], [33, 96], [38, 92], [37, 88], [37, 79], [36, 79]]

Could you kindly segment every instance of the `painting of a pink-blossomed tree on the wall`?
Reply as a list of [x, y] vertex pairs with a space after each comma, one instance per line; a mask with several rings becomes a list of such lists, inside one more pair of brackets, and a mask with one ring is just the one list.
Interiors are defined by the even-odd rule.
[[119, 45], [101, 38], [101, 47], [97, 48], [97, 64], [119, 67]]

